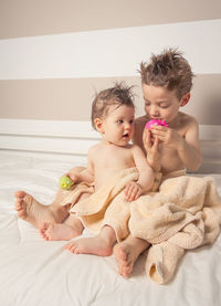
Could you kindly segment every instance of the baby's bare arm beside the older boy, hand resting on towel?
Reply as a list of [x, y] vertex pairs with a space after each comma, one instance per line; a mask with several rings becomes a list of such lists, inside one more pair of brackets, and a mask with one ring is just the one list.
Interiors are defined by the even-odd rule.
[[143, 150], [138, 146], [133, 146], [133, 157], [135, 166], [139, 172], [138, 180], [127, 183], [125, 196], [128, 201], [136, 200], [143, 192], [149, 190], [154, 184], [154, 172], [148, 165]]

